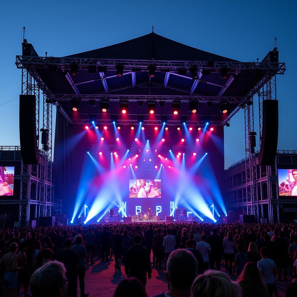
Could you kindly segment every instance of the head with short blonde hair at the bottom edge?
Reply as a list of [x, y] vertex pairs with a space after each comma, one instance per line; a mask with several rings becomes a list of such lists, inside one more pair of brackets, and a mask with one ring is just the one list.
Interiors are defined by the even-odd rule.
[[217, 270], [207, 270], [198, 275], [192, 284], [192, 297], [239, 297], [240, 286], [230, 280], [227, 274]]

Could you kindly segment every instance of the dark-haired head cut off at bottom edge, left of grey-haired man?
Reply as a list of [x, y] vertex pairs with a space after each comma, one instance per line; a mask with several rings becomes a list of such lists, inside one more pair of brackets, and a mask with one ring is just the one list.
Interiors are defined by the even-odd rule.
[[123, 279], [116, 287], [113, 297], [147, 297], [143, 284], [134, 277]]

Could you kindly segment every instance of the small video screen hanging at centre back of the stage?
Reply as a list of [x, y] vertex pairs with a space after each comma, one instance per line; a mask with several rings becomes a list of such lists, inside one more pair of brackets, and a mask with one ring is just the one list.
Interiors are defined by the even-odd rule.
[[130, 179], [129, 198], [161, 198], [161, 180]]

